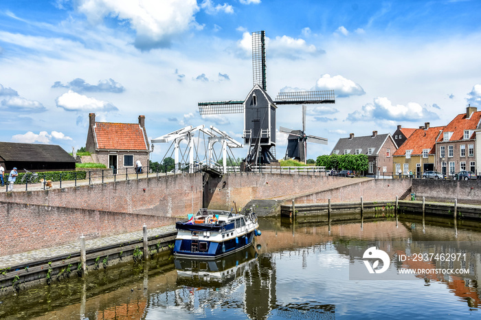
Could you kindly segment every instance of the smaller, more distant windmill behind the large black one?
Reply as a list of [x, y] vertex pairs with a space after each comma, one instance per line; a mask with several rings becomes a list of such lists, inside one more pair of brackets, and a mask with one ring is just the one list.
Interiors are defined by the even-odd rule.
[[289, 135], [285, 159], [293, 158], [306, 163], [307, 141], [315, 144], [327, 144], [326, 138], [306, 135], [306, 106], [304, 104], [302, 105], [302, 130], [292, 130], [281, 126], [279, 132]]

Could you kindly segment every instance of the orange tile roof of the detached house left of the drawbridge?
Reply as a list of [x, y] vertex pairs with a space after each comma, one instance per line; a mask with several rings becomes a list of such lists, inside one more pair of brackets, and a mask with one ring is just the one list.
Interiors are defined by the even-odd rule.
[[147, 137], [139, 124], [96, 122], [94, 130], [98, 149], [148, 150]]

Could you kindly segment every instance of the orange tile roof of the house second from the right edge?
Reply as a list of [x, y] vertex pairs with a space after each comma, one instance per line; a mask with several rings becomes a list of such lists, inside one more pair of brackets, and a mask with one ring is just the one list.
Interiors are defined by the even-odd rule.
[[423, 149], [430, 149], [429, 154], [436, 153], [436, 138], [445, 127], [444, 126], [434, 126], [432, 128], [415, 129], [412, 135], [399, 147], [394, 156], [403, 156], [406, 154], [406, 150], [412, 150], [411, 155], [422, 155]]

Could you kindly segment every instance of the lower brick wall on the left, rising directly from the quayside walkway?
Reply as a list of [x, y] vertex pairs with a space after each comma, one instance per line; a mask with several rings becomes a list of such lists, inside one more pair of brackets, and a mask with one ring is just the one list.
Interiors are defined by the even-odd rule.
[[0, 202], [0, 256], [170, 225], [175, 218]]

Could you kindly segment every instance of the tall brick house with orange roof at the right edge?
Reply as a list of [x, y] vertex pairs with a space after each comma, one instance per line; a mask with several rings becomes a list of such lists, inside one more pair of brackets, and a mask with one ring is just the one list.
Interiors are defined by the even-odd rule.
[[476, 130], [480, 128], [481, 111], [473, 106], [456, 115], [436, 140], [436, 170], [453, 176], [461, 170], [480, 172], [476, 163]]

